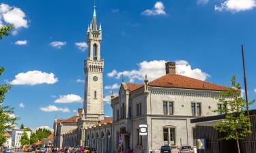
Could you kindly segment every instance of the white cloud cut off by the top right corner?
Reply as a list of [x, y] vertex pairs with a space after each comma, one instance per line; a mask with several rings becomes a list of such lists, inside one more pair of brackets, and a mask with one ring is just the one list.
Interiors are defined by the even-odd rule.
[[215, 5], [217, 11], [240, 12], [252, 10], [256, 6], [255, 0], [225, 0], [221, 5]]

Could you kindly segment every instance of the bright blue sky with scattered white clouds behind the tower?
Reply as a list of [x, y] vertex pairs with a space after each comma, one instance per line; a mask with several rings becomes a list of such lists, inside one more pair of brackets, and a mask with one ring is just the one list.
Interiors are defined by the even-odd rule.
[[[83, 61], [92, 0], [0, 2], [0, 27], [14, 24], [0, 41], [0, 83], [12, 84], [5, 105], [12, 105], [18, 124], [53, 126], [83, 107]], [[100, 0], [104, 58], [104, 113], [112, 116], [111, 91], [122, 82], [142, 83], [165, 75], [165, 62], [177, 73], [231, 85], [243, 84], [244, 44], [249, 99], [256, 99], [255, 0]], [[242, 90], [243, 91], [243, 90]], [[256, 109], [256, 104], [251, 105]]]

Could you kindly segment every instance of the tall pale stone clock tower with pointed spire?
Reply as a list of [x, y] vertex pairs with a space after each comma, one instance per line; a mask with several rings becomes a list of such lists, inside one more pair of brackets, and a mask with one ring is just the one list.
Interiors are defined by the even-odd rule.
[[104, 119], [103, 81], [104, 60], [100, 57], [102, 41], [101, 24], [98, 27], [96, 8], [87, 30], [88, 57], [85, 61], [85, 93], [83, 107], [85, 118]]

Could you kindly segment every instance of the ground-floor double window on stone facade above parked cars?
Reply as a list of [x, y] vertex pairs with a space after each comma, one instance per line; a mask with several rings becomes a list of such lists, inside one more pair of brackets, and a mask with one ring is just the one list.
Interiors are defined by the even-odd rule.
[[175, 128], [165, 127], [162, 129], [164, 146], [175, 146]]

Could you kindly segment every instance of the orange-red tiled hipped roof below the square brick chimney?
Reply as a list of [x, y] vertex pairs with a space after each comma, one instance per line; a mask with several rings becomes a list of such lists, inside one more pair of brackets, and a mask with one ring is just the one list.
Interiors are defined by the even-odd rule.
[[189, 78], [184, 75], [178, 74], [167, 74], [152, 82], [149, 82], [148, 86], [158, 86], [164, 88], [186, 88], [186, 89], [196, 89], [196, 90], [214, 90], [223, 91], [227, 90], [226, 86], [220, 86], [217, 84], [212, 84], [210, 82], [204, 82], [194, 78]]

